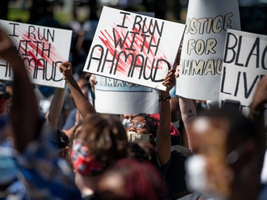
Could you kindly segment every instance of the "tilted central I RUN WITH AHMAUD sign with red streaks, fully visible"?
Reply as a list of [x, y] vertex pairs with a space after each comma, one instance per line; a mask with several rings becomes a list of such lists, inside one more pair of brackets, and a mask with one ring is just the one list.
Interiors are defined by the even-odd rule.
[[84, 71], [166, 90], [185, 25], [104, 7]]

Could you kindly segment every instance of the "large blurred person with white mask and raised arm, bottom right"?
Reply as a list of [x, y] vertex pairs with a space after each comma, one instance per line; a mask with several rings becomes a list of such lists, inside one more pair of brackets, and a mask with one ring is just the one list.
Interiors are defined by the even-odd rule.
[[250, 105], [250, 119], [230, 108], [211, 109], [195, 118], [190, 130], [195, 155], [187, 163], [187, 185], [198, 193], [181, 199], [266, 199], [260, 184], [266, 102], [263, 76]]

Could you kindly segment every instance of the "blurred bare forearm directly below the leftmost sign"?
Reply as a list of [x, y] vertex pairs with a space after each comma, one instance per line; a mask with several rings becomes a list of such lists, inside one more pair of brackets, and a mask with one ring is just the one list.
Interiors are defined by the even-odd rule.
[[64, 103], [65, 88], [56, 88], [48, 113], [47, 124], [56, 127]]

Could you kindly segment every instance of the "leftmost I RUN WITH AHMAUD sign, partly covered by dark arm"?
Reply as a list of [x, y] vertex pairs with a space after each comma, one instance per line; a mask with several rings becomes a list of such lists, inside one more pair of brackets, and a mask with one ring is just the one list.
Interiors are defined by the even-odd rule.
[[[71, 30], [0, 20], [0, 26], [12, 39], [35, 84], [65, 87], [58, 67], [68, 61]], [[0, 58], [0, 79], [12, 80], [12, 66]]]

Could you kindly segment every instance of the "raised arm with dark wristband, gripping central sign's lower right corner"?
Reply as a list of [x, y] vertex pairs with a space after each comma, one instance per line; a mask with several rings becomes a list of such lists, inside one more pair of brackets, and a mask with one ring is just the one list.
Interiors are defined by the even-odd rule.
[[167, 86], [167, 91], [160, 91], [160, 119], [157, 133], [157, 155], [162, 165], [166, 164], [170, 159], [171, 154], [171, 139], [170, 139], [170, 123], [171, 123], [171, 111], [169, 91], [175, 85], [175, 69], [170, 69], [168, 75], [162, 82]]

